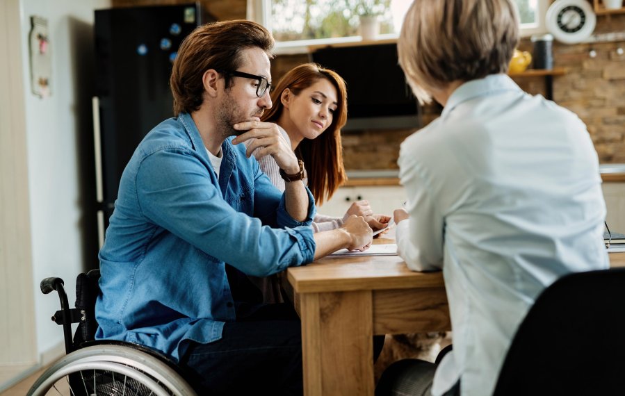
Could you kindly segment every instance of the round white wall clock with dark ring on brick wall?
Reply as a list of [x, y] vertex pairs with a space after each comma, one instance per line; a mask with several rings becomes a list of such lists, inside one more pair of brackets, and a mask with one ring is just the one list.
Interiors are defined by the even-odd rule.
[[546, 14], [549, 33], [567, 44], [589, 38], [595, 24], [596, 16], [586, 0], [555, 0]]

